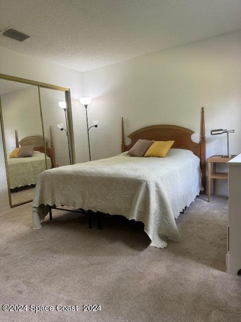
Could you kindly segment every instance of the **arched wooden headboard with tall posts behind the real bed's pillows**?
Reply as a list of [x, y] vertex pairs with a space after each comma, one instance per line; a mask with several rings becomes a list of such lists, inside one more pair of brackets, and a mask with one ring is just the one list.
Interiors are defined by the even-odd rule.
[[177, 125], [152, 125], [141, 128], [128, 135], [131, 138], [131, 144], [125, 144], [124, 120], [122, 118], [122, 152], [128, 151], [139, 139], [154, 141], [174, 140], [173, 148], [182, 148], [193, 151], [200, 158], [202, 171], [202, 185], [205, 191], [206, 176], [206, 140], [205, 140], [205, 121], [204, 108], [201, 108], [201, 138], [199, 143], [191, 139], [194, 131]]

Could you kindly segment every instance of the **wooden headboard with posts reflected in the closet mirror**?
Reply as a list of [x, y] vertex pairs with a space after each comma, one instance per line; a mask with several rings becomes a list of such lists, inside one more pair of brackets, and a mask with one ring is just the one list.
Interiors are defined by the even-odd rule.
[[[45, 148], [46, 148], [46, 154], [51, 158], [52, 168], [55, 168], [56, 167], [55, 153], [54, 153], [54, 143], [53, 143], [53, 135], [52, 135], [51, 126], [49, 127], [49, 131], [50, 131], [50, 146], [48, 144], [48, 140], [45, 139]], [[40, 152], [45, 153], [45, 148], [43, 145], [43, 136], [41, 136], [41, 135], [27, 136], [19, 141], [18, 130], [15, 130], [15, 141], [16, 141], [16, 147], [26, 146], [26, 145], [34, 145], [35, 151], [40, 151]]]

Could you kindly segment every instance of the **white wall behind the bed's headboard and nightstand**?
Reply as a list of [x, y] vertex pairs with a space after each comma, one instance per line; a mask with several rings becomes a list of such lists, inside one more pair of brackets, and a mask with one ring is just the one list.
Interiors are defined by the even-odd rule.
[[[99, 128], [90, 134], [92, 156], [121, 151], [121, 117], [126, 136], [154, 124], [175, 124], [200, 136], [200, 111], [205, 108], [207, 157], [226, 153], [224, 135], [216, 128], [235, 129], [230, 150], [240, 153], [241, 32], [134, 58], [83, 74], [84, 92], [93, 98], [90, 119]], [[222, 169], [223, 170], [223, 169]], [[226, 181], [217, 193], [226, 194]]]

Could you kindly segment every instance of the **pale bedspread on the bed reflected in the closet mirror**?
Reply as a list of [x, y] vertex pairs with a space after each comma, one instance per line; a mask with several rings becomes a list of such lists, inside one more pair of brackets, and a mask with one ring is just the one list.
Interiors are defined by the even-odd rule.
[[[51, 168], [51, 159], [47, 156], [48, 169]], [[33, 153], [30, 157], [8, 157], [10, 188], [19, 188], [36, 184], [41, 172], [46, 170], [45, 154]]]

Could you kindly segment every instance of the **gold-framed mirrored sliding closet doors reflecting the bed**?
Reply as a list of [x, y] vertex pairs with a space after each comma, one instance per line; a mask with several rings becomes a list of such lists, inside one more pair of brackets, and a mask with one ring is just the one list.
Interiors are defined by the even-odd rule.
[[0, 103], [14, 207], [32, 201], [41, 172], [73, 163], [69, 90], [0, 74]]

